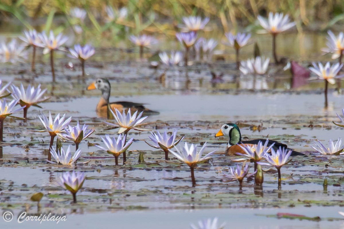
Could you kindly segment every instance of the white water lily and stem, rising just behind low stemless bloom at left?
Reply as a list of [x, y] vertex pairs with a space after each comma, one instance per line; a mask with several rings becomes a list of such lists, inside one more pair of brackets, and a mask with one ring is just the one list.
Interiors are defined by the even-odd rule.
[[65, 120], [66, 114], [63, 114], [63, 116], [60, 118], [60, 113], [58, 113], [53, 121], [50, 111], [49, 111], [49, 119], [45, 117], [45, 115], [43, 115], [42, 113], [41, 113], [41, 116], [38, 116], [38, 117], [40, 118], [44, 128], [46, 129], [43, 131], [47, 131], [50, 135], [48, 161], [51, 161], [50, 149], [53, 146], [54, 138], [56, 135], [61, 136], [61, 133], [65, 131], [64, 128], [69, 124], [69, 122], [71, 122], [72, 117], [69, 117]]

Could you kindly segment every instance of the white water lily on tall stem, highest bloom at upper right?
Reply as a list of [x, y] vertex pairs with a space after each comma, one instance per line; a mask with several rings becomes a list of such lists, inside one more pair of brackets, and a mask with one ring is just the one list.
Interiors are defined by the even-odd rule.
[[258, 21], [260, 25], [265, 28], [265, 30], [272, 34], [272, 52], [275, 63], [278, 64], [276, 55], [276, 36], [278, 33], [289, 30], [291, 27], [295, 26], [295, 22], [289, 22], [288, 14], [283, 16], [283, 13], [276, 13], [275, 15], [270, 12], [269, 18], [265, 19], [262, 16], [258, 16]]

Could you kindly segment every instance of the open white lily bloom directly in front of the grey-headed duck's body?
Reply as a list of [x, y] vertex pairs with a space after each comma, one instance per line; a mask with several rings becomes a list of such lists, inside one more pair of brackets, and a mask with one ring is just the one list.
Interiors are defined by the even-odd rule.
[[117, 121], [118, 124], [113, 124], [113, 123], [108, 123], [108, 122], [105, 122], [105, 123], [110, 126], [113, 126], [110, 129], [119, 128], [118, 134], [121, 134], [123, 132], [127, 133], [130, 129], [135, 129], [139, 131], [150, 131], [149, 129], [138, 127], [138, 125], [142, 123], [142, 121], [148, 117], [148, 116], [145, 116], [141, 118], [143, 112], [137, 115], [137, 111], [136, 111], [133, 115], [131, 115], [130, 108], [128, 109], [127, 114], [125, 114], [124, 110], [121, 113], [115, 108], [115, 113], [112, 110], [111, 110], [111, 113], [112, 115], [114, 115], [115, 120]]

